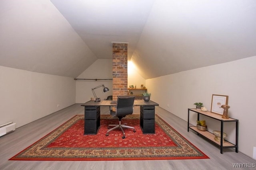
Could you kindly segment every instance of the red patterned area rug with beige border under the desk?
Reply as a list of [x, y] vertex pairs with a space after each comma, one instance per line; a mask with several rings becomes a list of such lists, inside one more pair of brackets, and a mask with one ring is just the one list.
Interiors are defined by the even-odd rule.
[[155, 117], [155, 134], [143, 134], [140, 115], [128, 115], [122, 123], [136, 128], [115, 129], [106, 137], [107, 126], [118, 123], [100, 116], [97, 135], [84, 135], [84, 115], [76, 115], [10, 160], [164, 160], [209, 158], [175, 129]]

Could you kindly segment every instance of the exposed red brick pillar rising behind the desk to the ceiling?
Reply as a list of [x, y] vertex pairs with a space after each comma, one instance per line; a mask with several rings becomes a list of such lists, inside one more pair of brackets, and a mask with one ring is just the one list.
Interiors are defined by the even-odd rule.
[[113, 51], [113, 100], [117, 100], [117, 96], [127, 95], [127, 43], [112, 43]]

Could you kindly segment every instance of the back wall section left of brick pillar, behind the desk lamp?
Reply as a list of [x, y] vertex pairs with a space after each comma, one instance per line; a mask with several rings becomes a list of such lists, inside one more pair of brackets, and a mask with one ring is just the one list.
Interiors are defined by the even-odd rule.
[[[86, 79], [112, 79], [112, 59], [98, 59], [89, 66], [77, 78]], [[76, 80], [76, 103], [85, 103], [90, 98], [94, 98], [92, 88], [104, 84], [109, 88], [108, 92], [103, 92], [102, 88], [94, 90], [96, 96], [101, 100], [112, 95], [112, 80]]]

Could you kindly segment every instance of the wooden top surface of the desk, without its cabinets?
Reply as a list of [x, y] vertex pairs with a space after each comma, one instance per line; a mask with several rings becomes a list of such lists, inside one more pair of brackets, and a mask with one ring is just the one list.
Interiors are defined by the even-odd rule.
[[[103, 100], [100, 102], [94, 102], [94, 100], [90, 100], [81, 106], [116, 106], [116, 103], [111, 103], [112, 100]], [[159, 106], [156, 102], [148, 101], [145, 102], [144, 100], [134, 100], [134, 106]]]

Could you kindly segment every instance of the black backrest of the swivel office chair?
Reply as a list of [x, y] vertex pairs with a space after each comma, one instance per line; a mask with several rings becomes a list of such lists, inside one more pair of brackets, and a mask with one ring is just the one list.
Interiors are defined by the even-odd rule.
[[116, 102], [116, 117], [133, 113], [135, 96], [118, 96]]

